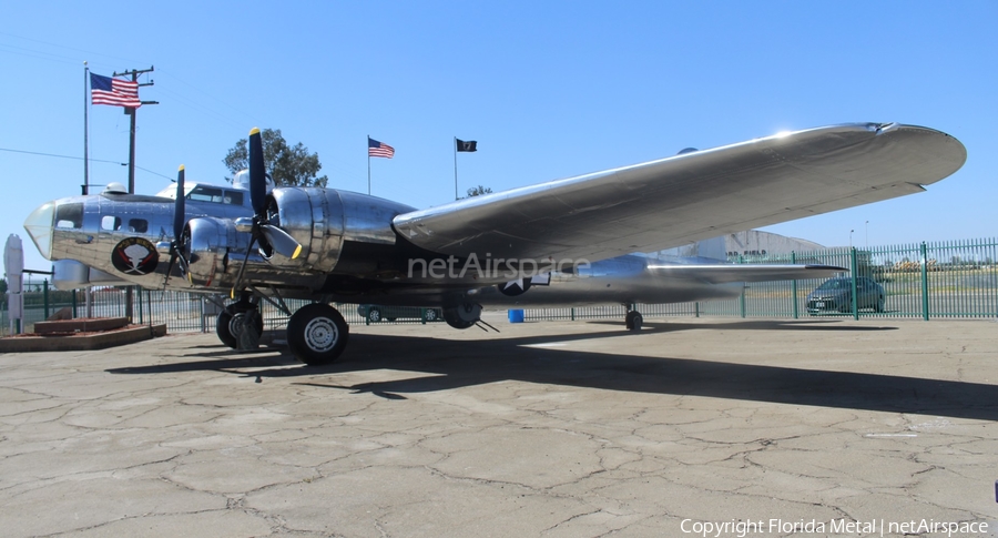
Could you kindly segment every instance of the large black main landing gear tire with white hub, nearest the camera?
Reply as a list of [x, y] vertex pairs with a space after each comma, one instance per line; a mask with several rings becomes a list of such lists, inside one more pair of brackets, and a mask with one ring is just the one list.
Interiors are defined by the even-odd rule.
[[298, 361], [322, 366], [336, 361], [346, 348], [350, 326], [339, 312], [323, 303], [298, 308], [287, 323], [287, 346]]

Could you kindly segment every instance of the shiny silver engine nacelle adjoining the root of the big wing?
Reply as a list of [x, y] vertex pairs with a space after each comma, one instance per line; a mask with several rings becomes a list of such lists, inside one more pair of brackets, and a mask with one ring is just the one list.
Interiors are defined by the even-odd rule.
[[349, 191], [275, 189], [267, 197], [271, 223], [291, 234], [302, 253], [292, 260], [263, 244], [261, 255], [277, 267], [328, 273], [336, 267], [345, 241], [394, 245], [391, 220], [410, 211], [408, 205]]

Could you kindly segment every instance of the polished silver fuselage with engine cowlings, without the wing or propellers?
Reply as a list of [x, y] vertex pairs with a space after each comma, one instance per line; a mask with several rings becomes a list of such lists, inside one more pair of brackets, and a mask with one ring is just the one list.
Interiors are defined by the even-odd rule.
[[[741, 290], [741, 285], [719, 286], [693, 277], [664, 276], [648, 268], [681, 260], [663, 262], [628, 255], [551, 272], [548, 285], [534, 285], [527, 293], [508, 296], [499, 293], [496, 284], [510, 280], [509, 276], [468, 271], [464, 275], [435, 277], [408, 271], [414, 258], [442, 261], [413, 247], [391, 227], [391, 220], [411, 207], [348, 191], [314, 187], [277, 189], [273, 196], [282, 227], [305, 247], [301, 260], [282, 258], [279, 254], [268, 257], [255, 247], [246, 257], [249, 234], [240, 231], [236, 222], [252, 216], [248, 203], [189, 199], [185, 217], [191, 233], [191, 278], [174, 267], [166, 286], [228, 293], [245, 258], [245, 275], [262, 293], [354, 303], [439, 306], [455, 295], [502, 307], [668, 303], [727, 297]], [[248, 202], [248, 197], [245, 200]], [[102, 280], [88, 282], [70, 271], [73, 265], [60, 263], [60, 286], [106, 284], [110, 275], [147, 288], [164, 287], [169, 243], [173, 240], [172, 197], [100, 194], [60, 199], [53, 204], [57, 221], [58, 214], [71, 206], [81, 207], [82, 217], [79, 222], [53, 223], [50, 258], [74, 261], [103, 273]], [[141, 226], [130, 226], [133, 222]], [[133, 237], [156, 245], [155, 271], [125, 274], [111, 263], [115, 246]]]

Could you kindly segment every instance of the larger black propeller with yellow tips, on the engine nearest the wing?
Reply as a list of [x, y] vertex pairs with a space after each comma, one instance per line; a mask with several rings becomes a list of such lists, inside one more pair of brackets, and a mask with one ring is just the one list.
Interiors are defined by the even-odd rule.
[[253, 215], [253, 229], [249, 231], [249, 245], [246, 246], [246, 257], [243, 258], [243, 265], [240, 266], [235, 286], [232, 288], [232, 298], [235, 298], [236, 291], [242, 286], [243, 271], [245, 271], [246, 263], [249, 261], [249, 253], [253, 251], [254, 243], [258, 242], [265, 250], [272, 248], [282, 256], [292, 260], [302, 254], [301, 243], [295, 241], [284, 230], [271, 224], [272, 214], [267, 204], [267, 179], [263, 159], [263, 139], [257, 128], [253, 128], [249, 131], [249, 202], [253, 204], [253, 212], [255, 213]]

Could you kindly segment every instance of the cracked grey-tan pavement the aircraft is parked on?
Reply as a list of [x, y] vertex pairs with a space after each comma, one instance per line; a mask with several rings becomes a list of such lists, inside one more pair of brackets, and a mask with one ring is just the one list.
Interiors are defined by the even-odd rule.
[[996, 536], [995, 321], [0, 355], [7, 537]]

